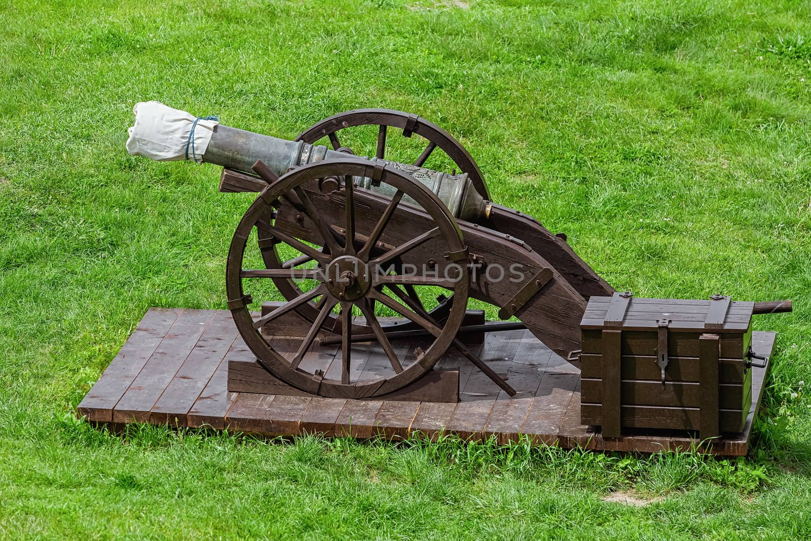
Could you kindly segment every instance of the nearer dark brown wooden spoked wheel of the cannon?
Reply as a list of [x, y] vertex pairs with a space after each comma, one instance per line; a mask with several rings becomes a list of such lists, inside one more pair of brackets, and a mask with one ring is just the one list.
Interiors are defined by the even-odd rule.
[[[353, 177], [374, 178], [375, 182], [379, 179], [396, 190], [396, 195], [388, 201], [374, 225], [364, 228], [363, 232], [355, 227], [354, 196], [362, 189], [354, 187]], [[342, 202], [341, 223], [328, 223], [308, 195], [308, 190], [317, 190], [325, 179], [336, 182], [337, 190], [332, 196]], [[234, 322], [260, 363], [286, 383], [324, 397], [376, 397], [401, 389], [430, 371], [453, 342], [465, 316], [468, 269], [461, 262], [446, 266], [443, 276], [436, 276], [436, 273], [405, 275], [396, 271], [399, 268], [397, 262], [408, 259], [411, 251], [436, 251], [439, 257], [466, 252], [461, 230], [444, 204], [407, 174], [388, 165], [375, 167], [374, 162], [356, 159], [316, 162], [290, 171], [275, 181], [270, 180], [268, 188], [251, 204], [234, 232], [226, 270], [229, 308]], [[431, 216], [433, 227], [427, 231], [414, 231], [409, 241], [398, 246], [380, 242], [380, 238], [385, 238], [386, 227], [397, 206], [406, 204], [401, 201], [405, 195], [414, 201], [410, 203], [412, 206], [418, 206]], [[296, 237], [295, 232], [277, 226], [272, 209], [280, 206], [282, 200], [306, 214], [308, 223], [314, 225], [318, 233], [320, 245], [312, 237], [309, 242], [303, 241]], [[362, 222], [371, 223], [367, 217]], [[249, 243], [252, 236], [257, 238], [256, 243]], [[248, 253], [254, 247], [263, 254]], [[251, 268], [251, 264], [257, 261], [268, 260], [265, 252], [277, 254], [282, 249], [298, 251], [315, 264], [303, 269], [282, 268], [281, 264]], [[278, 261], [280, 258], [274, 256], [272, 259]], [[288, 299], [265, 316], [257, 319], [251, 316], [248, 305], [260, 300], [256, 296], [264, 294], [264, 286], [280, 279], [294, 278], [307, 279], [314, 286], [309, 290], [299, 290], [295, 298]], [[446, 320], [434, 319], [423, 309], [418, 298], [408, 293], [407, 288], [413, 290], [415, 285], [453, 292], [457, 302], [448, 311]], [[314, 303], [318, 314], [294, 347], [282, 350], [260, 332], [265, 325], [272, 327], [274, 321], [304, 303]], [[427, 331], [427, 346], [410, 354], [398, 354], [375, 316], [374, 303], [380, 303]], [[368, 379], [364, 379], [353, 370], [353, 351], [358, 346], [358, 342], [353, 341], [357, 329], [353, 324], [353, 307], [363, 315], [364, 328], [371, 330], [388, 359], [390, 369], [383, 376], [367, 375]], [[340, 351], [334, 357], [311, 354], [317, 338], [324, 333], [341, 335]], [[320, 363], [320, 360], [324, 362]]]

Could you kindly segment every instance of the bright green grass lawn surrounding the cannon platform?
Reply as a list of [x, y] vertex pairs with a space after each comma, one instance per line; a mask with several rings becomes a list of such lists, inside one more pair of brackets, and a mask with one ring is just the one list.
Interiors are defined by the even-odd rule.
[[[0, 536], [811, 535], [811, 4], [0, 0]], [[124, 150], [136, 101], [292, 137], [390, 107], [638, 295], [792, 298], [746, 460], [268, 444], [75, 405], [150, 306], [222, 308], [248, 195]], [[604, 501], [621, 490], [644, 507]]]

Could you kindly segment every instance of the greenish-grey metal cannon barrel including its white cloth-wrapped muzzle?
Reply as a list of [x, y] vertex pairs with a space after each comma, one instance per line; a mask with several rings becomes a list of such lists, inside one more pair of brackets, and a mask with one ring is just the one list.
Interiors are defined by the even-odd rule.
[[[134, 112], [135, 126], [129, 129], [127, 151], [133, 156], [145, 156], [152, 160], [212, 163], [249, 174], [253, 174], [251, 168], [256, 161], [263, 161], [274, 173], [282, 175], [290, 169], [315, 161], [354, 157], [323, 145], [228, 127], [217, 118], [198, 118], [157, 101], [141, 102], [135, 105]], [[466, 173], [446, 174], [375, 157], [354, 158], [385, 162], [409, 174], [414, 181], [436, 193], [453, 217], [480, 222], [489, 215], [490, 202], [478, 194]], [[370, 178], [354, 178], [354, 183], [388, 197], [395, 192], [393, 187], [387, 185], [373, 186]]]

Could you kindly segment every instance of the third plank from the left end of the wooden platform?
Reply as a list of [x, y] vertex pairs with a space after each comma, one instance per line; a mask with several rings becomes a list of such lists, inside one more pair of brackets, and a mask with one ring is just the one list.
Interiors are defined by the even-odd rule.
[[155, 406], [152, 406], [149, 422], [186, 426], [188, 411], [220, 366], [237, 335], [237, 327], [230, 313], [218, 311]]

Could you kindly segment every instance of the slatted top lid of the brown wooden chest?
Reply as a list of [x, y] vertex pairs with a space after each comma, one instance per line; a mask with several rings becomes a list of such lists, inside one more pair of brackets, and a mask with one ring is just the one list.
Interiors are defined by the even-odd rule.
[[672, 331], [743, 334], [749, 330], [753, 309], [752, 302], [721, 295], [708, 299], [637, 298], [618, 292], [612, 297], [591, 297], [580, 327], [653, 331], [667, 321]]

